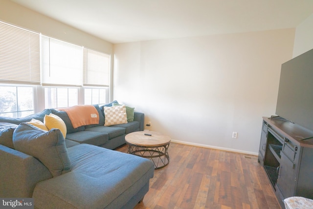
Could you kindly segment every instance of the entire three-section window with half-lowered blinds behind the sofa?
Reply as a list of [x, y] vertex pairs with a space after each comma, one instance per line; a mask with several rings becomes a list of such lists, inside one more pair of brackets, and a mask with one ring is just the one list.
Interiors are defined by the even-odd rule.
[[0, 40], [0, 116], [108, 103], [111, 55], [3, 22]]

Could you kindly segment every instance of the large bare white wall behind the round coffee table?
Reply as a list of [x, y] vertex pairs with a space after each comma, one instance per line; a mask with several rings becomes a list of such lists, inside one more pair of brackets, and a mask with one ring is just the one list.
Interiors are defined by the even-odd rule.
[[282, 29], [116, 44], [113, 97], [173, 140], [256, 154], [293, 40]]

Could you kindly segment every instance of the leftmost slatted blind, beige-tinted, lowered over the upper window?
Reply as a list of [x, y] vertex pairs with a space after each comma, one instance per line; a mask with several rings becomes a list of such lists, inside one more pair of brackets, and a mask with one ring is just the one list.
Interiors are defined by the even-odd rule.
[[0, 22], [0, 82], [40, 85], [40, 34]]

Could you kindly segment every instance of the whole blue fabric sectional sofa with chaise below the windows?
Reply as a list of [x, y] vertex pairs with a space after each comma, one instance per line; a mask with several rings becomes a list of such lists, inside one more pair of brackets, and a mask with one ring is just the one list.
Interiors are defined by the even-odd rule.
[[[33, 197], [35, 208], [134, 208], [149, 190], [154, 165], [147, 159], [117, 152], [125, 135], [143, 130], [142, 113], [134, 121], [74, 129], [63, 111], [46, 109], [23, 118], [0, 117], [0, 197]], [[25, 122], [43, 121], [50, 113], [67, 125], [44, 131]], [[52, 156], [52, 157], [51, 157]]]

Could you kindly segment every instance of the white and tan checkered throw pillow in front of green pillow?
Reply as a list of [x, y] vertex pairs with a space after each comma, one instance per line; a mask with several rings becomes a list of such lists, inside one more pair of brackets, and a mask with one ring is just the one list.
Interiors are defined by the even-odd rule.
[[105, 126], [127, 123], [125, 105], [104, 107], [103, 110], [105, 117], [104, 121]]

